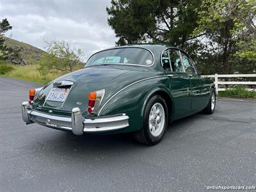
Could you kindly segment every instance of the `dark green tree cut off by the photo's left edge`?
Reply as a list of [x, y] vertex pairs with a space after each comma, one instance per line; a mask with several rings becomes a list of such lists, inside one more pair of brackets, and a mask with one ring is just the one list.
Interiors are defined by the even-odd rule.
[[12, 29], [12, 26], [10, 26], [10, 23], [7, 19], [3, 19], [0, 21], [0, 60], [6, 59], [8, 55], [8, 49], [6, 45], [4, 45], [4, 33], [6, 33], [8, 30]]

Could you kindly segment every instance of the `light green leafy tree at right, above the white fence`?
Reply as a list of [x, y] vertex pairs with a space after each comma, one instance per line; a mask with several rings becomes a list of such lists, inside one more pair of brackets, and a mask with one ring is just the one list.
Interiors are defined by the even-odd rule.
[[202, 0], [198, 27], [192, 36], [204, 34], [204, 42], [211, 44], [212, 53], [218, 56], [219, 72], [253, 72], [256, 70], [255, 24], [255, 0]]

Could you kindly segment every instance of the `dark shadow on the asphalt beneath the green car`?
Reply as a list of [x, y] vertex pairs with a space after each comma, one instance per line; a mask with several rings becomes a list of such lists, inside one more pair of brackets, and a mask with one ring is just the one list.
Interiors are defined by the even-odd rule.
[[139, 154], [154, 148], [161, 148], [161, 145], [168, 143], [165, 141], [172, 140], [174, 135], [187, 131], [188, 125], [194, 119], [196, 119], [195, 115], [170, 123], [163, 141], [152, 147], [137, 143], [132, 138], [132, 133], [75, 136], [71, 132], [56, 131], [51, 138], [47, 136], [41, 138], [40, 148], [42, 150], [38, 148], [36, 151], [45, 153], [45, 156], [51, 156], [51, 153], [54, 153], [55, 155], [58, 154], [58, 156], [70, 156], [72, 158], [76, 158], [74, 157], [75, 154], [79, 154], [80, 157], [104, 155], [109, 157], [109, 154], [113, 157], [129, 154], [130, 152]]

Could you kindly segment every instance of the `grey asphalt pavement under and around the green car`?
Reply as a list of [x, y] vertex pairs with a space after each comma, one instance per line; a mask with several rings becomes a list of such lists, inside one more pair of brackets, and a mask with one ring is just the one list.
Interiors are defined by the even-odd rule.
[[256, 184], [256, 100], [220, 99], [213, 115], [173, 122], [154, 147], [129, 134], [74, 136], [25, 125], [38, 84], [0, 77], [0, 191], [205, 191]]

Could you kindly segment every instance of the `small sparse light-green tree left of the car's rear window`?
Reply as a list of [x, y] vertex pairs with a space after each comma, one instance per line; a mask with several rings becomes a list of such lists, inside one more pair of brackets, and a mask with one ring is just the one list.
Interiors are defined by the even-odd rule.
[[70, 47], [65, 41], [52, 41], [47, 43], [47, 53], [42, 54], [38, 70], [42, 75], [48, 72], [71, 72], [84, 65], [81, 61], [81, 49]]

